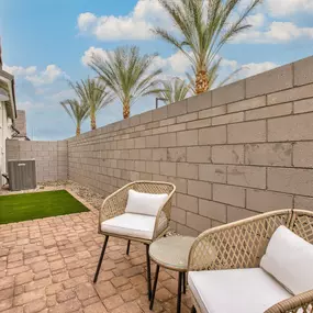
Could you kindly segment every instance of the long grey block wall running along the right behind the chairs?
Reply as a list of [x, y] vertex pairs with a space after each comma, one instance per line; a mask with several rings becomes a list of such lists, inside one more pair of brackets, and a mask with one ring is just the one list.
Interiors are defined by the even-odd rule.
[[70, 138], [68, 153], [69, 178], [105, 195], [137, 179], [176, 183], [183, 234], [313, 210], [313, 57]]

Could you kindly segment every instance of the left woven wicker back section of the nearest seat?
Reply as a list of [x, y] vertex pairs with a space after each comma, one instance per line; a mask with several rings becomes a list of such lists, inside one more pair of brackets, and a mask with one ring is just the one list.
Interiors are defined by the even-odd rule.
[[289, 225], [291, 210], [273, 211], [208, 230], [189, 254], [189, 270], [254, 268], [280, 225]]

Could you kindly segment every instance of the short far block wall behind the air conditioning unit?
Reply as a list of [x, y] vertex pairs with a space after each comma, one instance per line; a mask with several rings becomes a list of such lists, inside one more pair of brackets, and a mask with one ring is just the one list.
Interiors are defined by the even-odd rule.
[[68, 179], [67, 141], [20, 142], [7, 139], [7, 160], [36, 160], [37, 181]]

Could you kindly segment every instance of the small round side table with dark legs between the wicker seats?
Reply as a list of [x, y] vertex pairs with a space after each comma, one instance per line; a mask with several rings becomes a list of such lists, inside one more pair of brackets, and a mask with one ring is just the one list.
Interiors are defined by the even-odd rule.
[[188, 267], [188, 257], [190, 248], [195, 238], [187, 236], [172, 236], [160, 238], [150, 244], [149, 256], [156, 262], [156, 272], [153, 295], [150, 300], [150, 310], [154, 306], [154, 300], [157, 288], [159, 267], [178, 271], [178, 292], [177, 292], [177, 312], [181, 306], [181, 289], [186, 293], [186, 272]]

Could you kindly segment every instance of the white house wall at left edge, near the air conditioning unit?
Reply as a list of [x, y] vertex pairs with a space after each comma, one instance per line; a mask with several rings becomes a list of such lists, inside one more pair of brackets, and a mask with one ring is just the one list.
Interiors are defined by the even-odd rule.
[[[12, 120], [8, 118], [7, 108], [4, 102], [0, 102], [0, 172], [7, 172], [5, 163], [5, 139], [12, 137]], [[4, 179], [0, 178], [1, 186], [4, 183]]]

